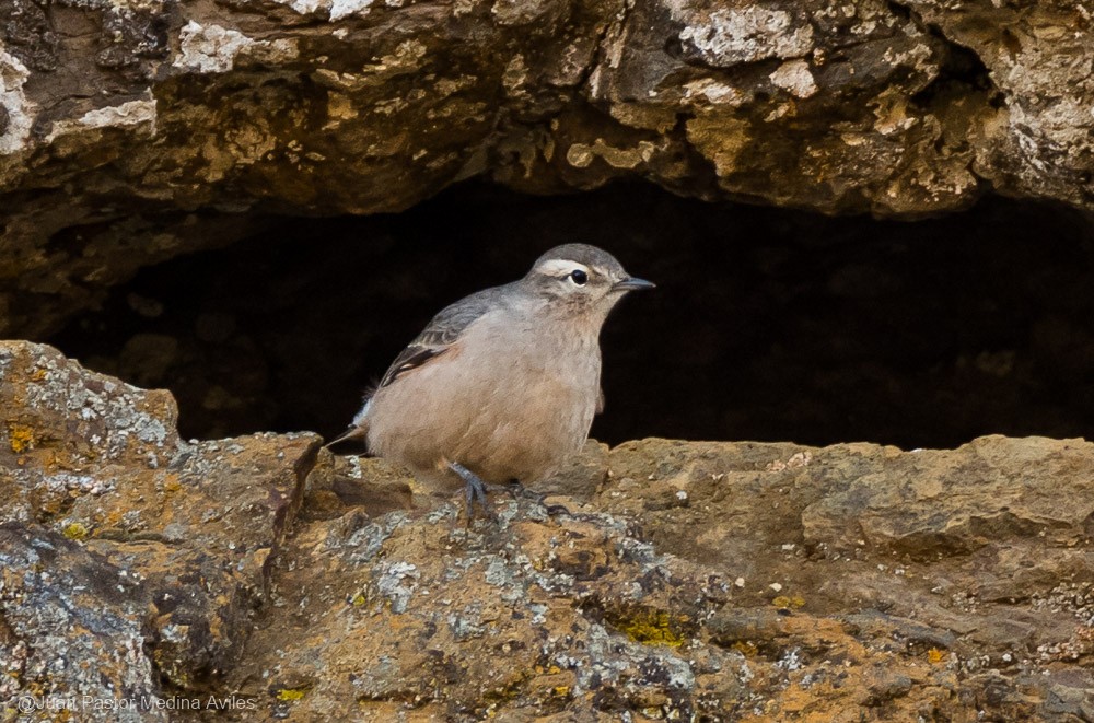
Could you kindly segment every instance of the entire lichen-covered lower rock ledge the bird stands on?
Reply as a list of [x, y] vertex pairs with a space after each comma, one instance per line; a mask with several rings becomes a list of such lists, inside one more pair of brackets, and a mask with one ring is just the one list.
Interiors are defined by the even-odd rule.
[[465, 527], [48, 347], [0, 343], [0, 399], [4, 720], [1094, 716], [1084, 441], [590, 443], [569, 512]]

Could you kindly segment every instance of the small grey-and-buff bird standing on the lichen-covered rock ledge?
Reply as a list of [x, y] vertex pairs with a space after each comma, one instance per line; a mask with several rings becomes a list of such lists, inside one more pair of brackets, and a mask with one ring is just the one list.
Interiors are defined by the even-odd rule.
[[433, 317], [327, 446], [364, 439], [434, 492], [462, 480], [469, 520], [487, 489], [537, 482], [581, 448], [604, 401], [601, 327], [653, 287], [595, 246], [557, 246]]

